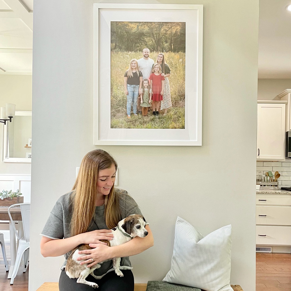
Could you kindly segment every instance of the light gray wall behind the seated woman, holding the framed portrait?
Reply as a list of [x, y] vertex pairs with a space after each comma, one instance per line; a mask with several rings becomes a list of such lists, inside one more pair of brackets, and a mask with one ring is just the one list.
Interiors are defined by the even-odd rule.
[[[82, 157], [98, 148], [93, 2], [34, 3], [30, 291], [58, 281], [63, 258], [42, 258], [39, 234]], [[154, 247], [131, 258], [135, 281], [164, 278], [180, 215], [204, 235], [232, 224], [231, 283], [253, 291], [258, 0], [152, 3], [204, 4], [203, 146], [100, 146], [116, 158], [119, 187], [139, 203], [155, 238]]]

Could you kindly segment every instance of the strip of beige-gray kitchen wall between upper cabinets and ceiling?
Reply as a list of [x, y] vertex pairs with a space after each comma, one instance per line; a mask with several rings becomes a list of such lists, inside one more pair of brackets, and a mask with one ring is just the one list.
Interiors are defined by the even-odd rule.
[[291, 88], [291, 79], [258, 79], [258, 100], [280, 100], [277, 97]]

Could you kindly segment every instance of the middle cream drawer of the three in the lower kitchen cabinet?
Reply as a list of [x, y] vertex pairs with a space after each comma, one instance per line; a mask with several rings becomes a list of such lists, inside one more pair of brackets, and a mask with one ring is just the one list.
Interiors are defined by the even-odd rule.
[[256, 206], [256, 224], [291, 226], [291, 207]]

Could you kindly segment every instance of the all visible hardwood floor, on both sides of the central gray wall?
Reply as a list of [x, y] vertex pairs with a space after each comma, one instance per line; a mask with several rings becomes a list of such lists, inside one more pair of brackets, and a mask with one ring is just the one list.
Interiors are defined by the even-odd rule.
[[[10, 249], [6, 246], [10, 259]], [[2, 254], [0, 254], [2, 259]], [[23, 273], [19, 270], [13, 285], [7, 279], [3, 264], [0, 264], [0, 291], [27, 291], [29, 267]], [[236, 282], [239, 284], [240, 282]], [[290, 291], [291, 290], [291, 254], [256, 253], [256, 291]]]

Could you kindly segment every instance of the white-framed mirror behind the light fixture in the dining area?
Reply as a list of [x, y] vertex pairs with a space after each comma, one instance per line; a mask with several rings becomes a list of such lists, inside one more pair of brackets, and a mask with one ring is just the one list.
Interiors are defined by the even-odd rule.
[[31, 163], [31, 111], [15, 111], [2, 129], [2, 162]]

